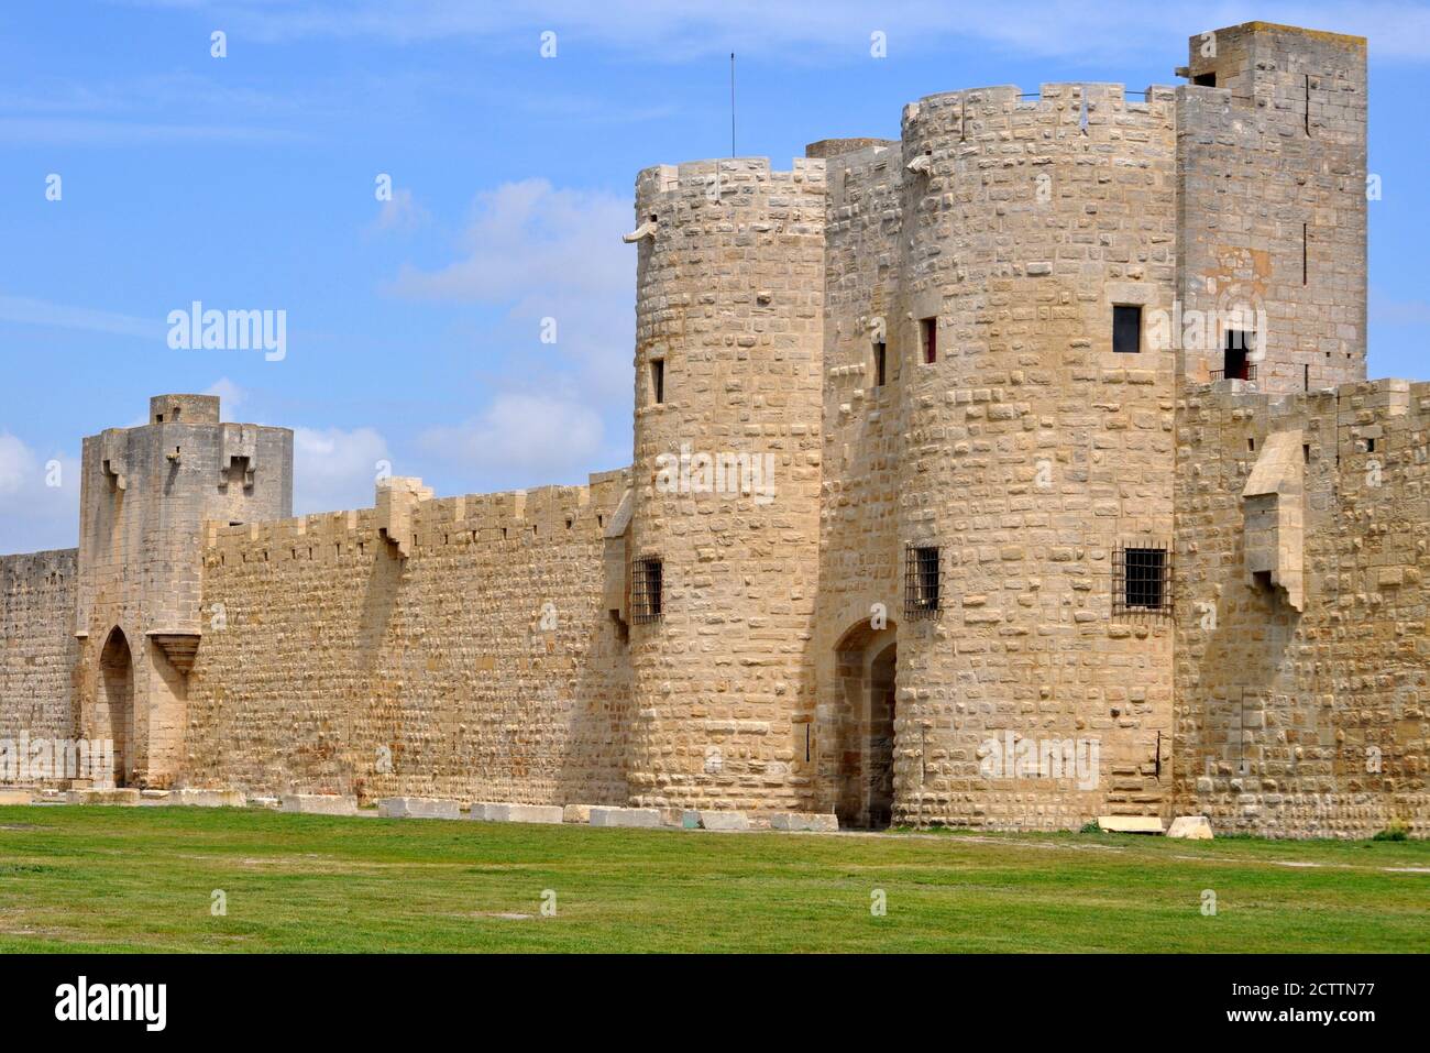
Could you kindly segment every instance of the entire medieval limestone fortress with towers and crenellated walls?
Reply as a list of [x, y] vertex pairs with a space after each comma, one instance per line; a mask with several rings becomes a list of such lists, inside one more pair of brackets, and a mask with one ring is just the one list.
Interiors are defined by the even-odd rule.
[[[636, 177], [635, 449], [292, 518], [160, 395], [0, 559], [0, 738], [94, 785], [1430, 831], [1430, 383], [1366, 379], [1366, 41], [980, 87]], [[83, 785], [83, 781], [74, 783]]]

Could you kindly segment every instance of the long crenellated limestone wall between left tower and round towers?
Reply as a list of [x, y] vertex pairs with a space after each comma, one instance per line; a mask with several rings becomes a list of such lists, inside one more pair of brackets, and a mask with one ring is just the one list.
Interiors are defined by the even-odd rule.
[[210, 524], [182, 781], [625, 804], [602, 547], [628, 479]]

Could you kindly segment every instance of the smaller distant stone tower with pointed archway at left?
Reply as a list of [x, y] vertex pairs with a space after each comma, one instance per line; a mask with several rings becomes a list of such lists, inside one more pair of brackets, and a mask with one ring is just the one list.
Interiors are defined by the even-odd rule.
[[187, 675], [212, 619], [203, 524], [292, 515], [293, 432], [220, 423], [212, 395], [159, 395], [149, 423], [86, 438], [82, 471], [79, 733], [113, 740], [116, 784], [163, 787], [182, 767]]

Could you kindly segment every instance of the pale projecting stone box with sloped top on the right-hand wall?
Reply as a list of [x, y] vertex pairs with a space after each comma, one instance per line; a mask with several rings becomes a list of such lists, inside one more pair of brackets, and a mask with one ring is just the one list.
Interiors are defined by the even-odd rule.
[[1286, 591], [1287, 602], [1304, 609], [1303, 505], [1304, 456], [1301, 432], [1276, 432], [1267, 438], [1241, 491], [1247, 571]]

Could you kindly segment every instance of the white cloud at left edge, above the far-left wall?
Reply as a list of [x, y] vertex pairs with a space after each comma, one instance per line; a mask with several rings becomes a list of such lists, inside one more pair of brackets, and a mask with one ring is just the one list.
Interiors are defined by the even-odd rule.
[[0, 554], [73, 548], [79, 537], [80, 465], [41, 458], [0, 432]]

